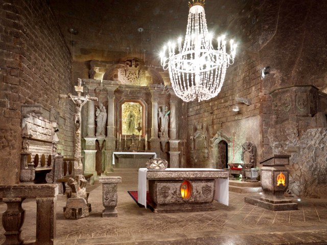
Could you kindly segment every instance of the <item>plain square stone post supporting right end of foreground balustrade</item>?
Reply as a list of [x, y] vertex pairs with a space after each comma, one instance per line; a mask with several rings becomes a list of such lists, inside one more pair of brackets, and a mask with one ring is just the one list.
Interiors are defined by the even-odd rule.
[[56, 201], [57, 197], [36, 198], [36, 245], [54, 244], [56, 237]]

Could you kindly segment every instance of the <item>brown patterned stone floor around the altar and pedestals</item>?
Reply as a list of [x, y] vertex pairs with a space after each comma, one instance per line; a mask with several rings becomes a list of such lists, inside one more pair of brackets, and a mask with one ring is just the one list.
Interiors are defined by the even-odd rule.
[[[139, 208], [127, 193], [137, 184], [119, 185], [118, 217], [102, 218], [102, 186], [88, 185], [89, 217], [63, 217], [65, 197], [57, 199], [55, 244], [327, 244], [327, 200], [304, 199], [298, 210], [273, 212], [244, 203], [253, 193], [229, 192], [229, 206], [214, 202], [217, 211], [155, 214]], [[294, 200], [294, 202], [297, 202]], [[35, 239], [34, 200], [25, 200], [22, 237]], [[0, 203], [0, 213], [6, 205]], [[5, 240], [0, 227], [0, 243]]]

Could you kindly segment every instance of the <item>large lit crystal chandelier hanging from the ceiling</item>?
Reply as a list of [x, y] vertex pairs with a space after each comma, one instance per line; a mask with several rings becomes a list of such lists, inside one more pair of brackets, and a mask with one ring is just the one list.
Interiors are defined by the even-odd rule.
[[[234, 62], [236, 44], [230, 40], [230, 53], [226, 53], [225, 36], [218, 37], [217, 50], [209, 34], [205, 13], [205, 0], [189, 2], [189, 18], [186, 35], [176, 44], [169, 42], [160, 54], [161, 65], [167, 70], [172, 87], [178, 97], [185, 102], [204, 101], [218, 95], [223, 85], [226, 69]], [[168, 57], [166, 54], [168, 53]]]

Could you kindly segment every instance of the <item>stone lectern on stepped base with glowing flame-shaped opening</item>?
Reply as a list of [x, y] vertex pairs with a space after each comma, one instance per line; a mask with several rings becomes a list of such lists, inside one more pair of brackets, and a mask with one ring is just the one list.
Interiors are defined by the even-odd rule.
[[284, 193], [289, 185], [289, 155], [274, 155], [261, 161], [262, 197], [245, 197], [245, 203], [272, 211], [296, 210], [297, 204], [286, 199]]

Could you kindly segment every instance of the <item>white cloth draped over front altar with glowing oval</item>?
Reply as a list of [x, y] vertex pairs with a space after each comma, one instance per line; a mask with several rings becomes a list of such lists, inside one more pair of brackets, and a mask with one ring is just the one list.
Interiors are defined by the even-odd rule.
[[[161, 171], [224, 171], [216, 168], [166, 168]], [[138, 186], [137, 186], [137, 202], [147, 208], [147, 168], [138, 169]], [[215, 179], [215, 197], [219, 203], [228, 206], [229, 192], [228, 192], [229, 179]]]

